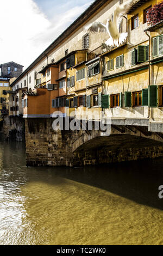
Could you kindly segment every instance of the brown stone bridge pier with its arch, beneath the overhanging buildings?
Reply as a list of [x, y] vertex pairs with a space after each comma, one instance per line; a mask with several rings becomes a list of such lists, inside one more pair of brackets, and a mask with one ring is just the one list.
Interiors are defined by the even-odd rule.
[[27, 166], [85, 166], [163, 156], [163, 133], [112, 124], [104, 130], [53, 130], [53, 118], [26, 119]]

